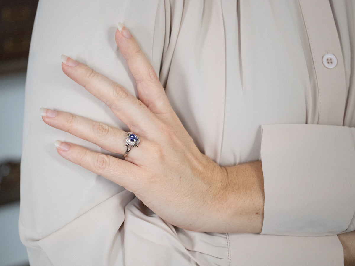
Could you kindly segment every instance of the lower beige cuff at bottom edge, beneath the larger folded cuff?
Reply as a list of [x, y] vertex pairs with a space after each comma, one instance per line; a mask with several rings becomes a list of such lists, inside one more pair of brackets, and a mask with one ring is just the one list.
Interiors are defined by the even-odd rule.
[[344, 251], [337, 235], [229, 234], [229, 265], [344, 266]]

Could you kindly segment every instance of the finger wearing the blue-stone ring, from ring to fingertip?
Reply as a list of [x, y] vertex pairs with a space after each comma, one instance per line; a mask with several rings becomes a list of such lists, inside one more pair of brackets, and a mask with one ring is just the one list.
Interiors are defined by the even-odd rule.
[[41, 108], [40, 113], [43, 121], [51, 127], [85, 139], [107, 151], [119, 154], [126, 152], [127, 132], [123, 130], [67, 112]]

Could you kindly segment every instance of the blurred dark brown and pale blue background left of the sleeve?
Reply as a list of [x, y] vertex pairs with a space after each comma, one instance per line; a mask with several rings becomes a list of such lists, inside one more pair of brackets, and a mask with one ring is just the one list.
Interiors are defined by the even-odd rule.
[[25, 266], [18, 236], [26, 67], [38, 0], [0, 0], [0, 266]]

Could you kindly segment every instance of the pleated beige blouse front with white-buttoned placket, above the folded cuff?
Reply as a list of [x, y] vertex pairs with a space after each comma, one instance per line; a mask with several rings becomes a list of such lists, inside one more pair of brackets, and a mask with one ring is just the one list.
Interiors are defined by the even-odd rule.
[[[261, 124], [343, 124], [345, 70], [332, 10], [328, 4], [322, 12], [332, 16], [325, 20], [333, 32], [300, 2], [216, 1], [184, 12], [166, 89], [189, 131], [215, 131], [197, 141], [209, 156], [219, 158], [222, 147], [238, 151], [227, 156], [235, 163], [257, 159]], [[332, 42], [311, 47], [326, 34]], [[327, 68], [326, 54], [338, 66]], [[234, 141], [223, 148], [227, 135]]]

